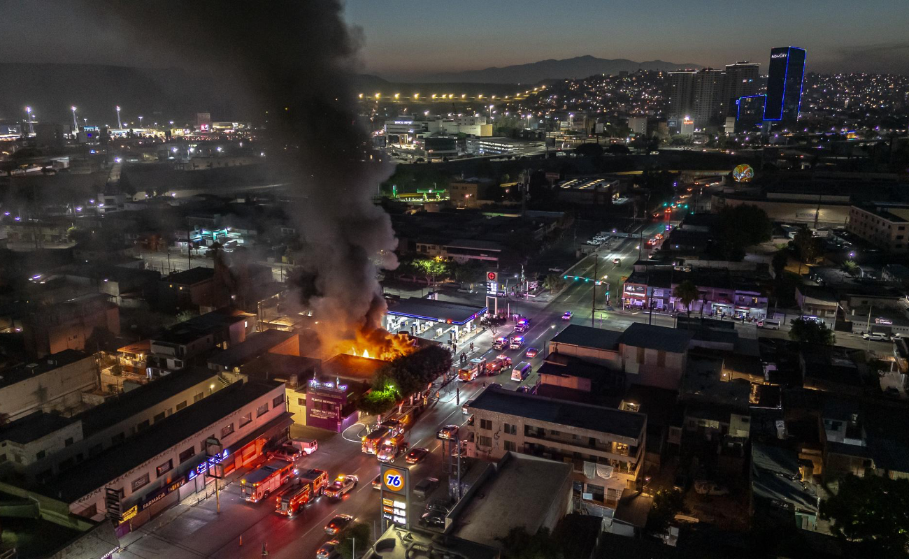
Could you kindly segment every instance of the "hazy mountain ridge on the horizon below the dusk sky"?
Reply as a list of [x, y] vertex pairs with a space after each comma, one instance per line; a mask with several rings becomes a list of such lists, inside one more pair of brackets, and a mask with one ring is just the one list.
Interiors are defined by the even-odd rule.
[[703, 65], [664, 60], [635, 62], [627, 58], [598, 58], [594, 55], [556, 60], [549, 58], [520, 65], [490, 66], [481, 70], [442, 72], [436, 74], [373, 73], [389, 81], [410, 83], [485, 82], [489, 84], [536, 84], [547, 79], [582, 78], [595, 74], [618, 74], [637, 70], [668, 71], [682, 68], [701, 69]]

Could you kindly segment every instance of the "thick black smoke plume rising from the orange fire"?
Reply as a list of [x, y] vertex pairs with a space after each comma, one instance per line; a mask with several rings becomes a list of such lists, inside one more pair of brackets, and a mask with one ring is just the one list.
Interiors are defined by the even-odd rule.
[[[329, 348], [374, 333], [385, 312], [376, 265], [396, 266], [391, 221], [373, 204], [390, 173], [370, 163], [350, 77], [360, 42], [335, 0], [155, 0], [86, 3], [131, 47], [180, 56], [245, 95], [294, 159], [286, 208], [305, 241], [307, 303]], [[267, 112], [267, 113], [266, 113]]]

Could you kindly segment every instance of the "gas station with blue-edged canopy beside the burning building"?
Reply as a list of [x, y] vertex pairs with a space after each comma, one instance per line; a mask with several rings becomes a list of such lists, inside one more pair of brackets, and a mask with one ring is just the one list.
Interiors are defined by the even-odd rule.
[[410, 297], [389, 305], [385, 329], [454, 343], [473, 332], [487, 310], [484, 306]]

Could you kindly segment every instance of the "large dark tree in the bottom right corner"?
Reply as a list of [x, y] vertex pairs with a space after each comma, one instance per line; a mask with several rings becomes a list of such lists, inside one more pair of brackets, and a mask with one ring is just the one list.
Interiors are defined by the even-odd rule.
[[909, 557], [909, 480], [850, 475], [821, 502], [820, 514], [837, 537], [854, 542], [856, 556]]

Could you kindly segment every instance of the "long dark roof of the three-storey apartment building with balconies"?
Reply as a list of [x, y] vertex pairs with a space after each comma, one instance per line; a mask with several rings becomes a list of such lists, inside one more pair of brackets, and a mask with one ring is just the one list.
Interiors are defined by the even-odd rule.
[[577, 404], [533, 394], [486, 388], [474, 398], [471, 408], [497, 414], [517, 415], [552, 424], [568, 425], [599, 433], [638, 439], [644, 433], [644, 414], [623, 412], [600, 405]]

